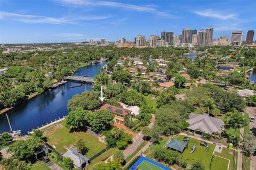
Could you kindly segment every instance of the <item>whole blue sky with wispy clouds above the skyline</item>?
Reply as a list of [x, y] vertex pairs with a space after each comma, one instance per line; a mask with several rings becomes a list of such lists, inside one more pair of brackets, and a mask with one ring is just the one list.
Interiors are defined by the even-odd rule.
[[[1, 0], [0, 43], [109, 41], [213, 25], [213, 38], [256, 31], [256, 1]], [[256, 35], [254, 36], [255, 40]]]

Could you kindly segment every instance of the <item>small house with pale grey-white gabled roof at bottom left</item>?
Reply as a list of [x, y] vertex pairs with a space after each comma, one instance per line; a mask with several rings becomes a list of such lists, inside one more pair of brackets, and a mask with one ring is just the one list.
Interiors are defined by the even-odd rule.
[[[82, 154], [77, 152], [77, 148], [68, 149], [68, 151], [63, 154], [63, 157], [71, 158], [74, 161], [74, 165], [78, 168], [83, 168], [89, 165], [89, 158], [86, 158]], [[85, 164], [85, 165], [84, 165]]]

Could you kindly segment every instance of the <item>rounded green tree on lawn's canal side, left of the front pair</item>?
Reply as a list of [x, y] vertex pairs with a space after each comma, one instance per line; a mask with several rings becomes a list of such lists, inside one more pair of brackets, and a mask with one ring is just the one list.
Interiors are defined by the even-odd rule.
[[66, 127], [83, 129], [87, 124], [86, 115], [89, 115], [89, 111], [85, 111], [83, 108], [76, 108], [74, 111], [70, 111], [66, 117]]

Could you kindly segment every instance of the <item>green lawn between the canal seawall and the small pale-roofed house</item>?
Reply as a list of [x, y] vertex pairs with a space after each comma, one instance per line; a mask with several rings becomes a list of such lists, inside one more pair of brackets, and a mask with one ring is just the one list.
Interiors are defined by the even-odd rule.
[[52, 128], [44, 133], [44, 136], [48, 138], [47, 143], [51, 146], [55, 146], [56, 149], [64, 154], [69, 148], [76, 145], [79, 139], [85, 141], [85, 146], [89, 148], [89, 152], [85, 155], [87, 158], [97, 154], [103, 148], [106, 147], [104, 143], [99, 142], [98, 137], [92, 135], [89, 131], [86, 132], [70, 132], [65, 127], [65, 120], [59, 122], [62, 126], [58, 128]]

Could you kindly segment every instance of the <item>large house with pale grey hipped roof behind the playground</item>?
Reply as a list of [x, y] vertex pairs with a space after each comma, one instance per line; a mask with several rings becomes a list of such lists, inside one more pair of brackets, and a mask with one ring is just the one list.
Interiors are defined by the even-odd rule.
[[224, 122], [219, 118], [211, 117], [207, 114], [195, 114], [191, 113], [188, 120], [188, 129], [195, 131], [195, 133], [201, 132], [212, 134], [213, 132], [222, 132], [222, 126]]

